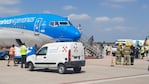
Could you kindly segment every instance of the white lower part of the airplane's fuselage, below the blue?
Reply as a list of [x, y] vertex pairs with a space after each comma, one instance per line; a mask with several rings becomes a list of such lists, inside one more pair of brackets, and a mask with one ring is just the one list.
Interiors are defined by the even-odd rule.
[[27, 46], [38, 45], [41, 46], [45, 43], [53, 42], [52, 38], [43, 34], [36, 34], [28, 30], [19, 30], [19, 29], [9, 29], [2, 28], [0, 29], [0, 46], [11, 46], [15, 44], [18, 46], [16, 39], [20, 39]]

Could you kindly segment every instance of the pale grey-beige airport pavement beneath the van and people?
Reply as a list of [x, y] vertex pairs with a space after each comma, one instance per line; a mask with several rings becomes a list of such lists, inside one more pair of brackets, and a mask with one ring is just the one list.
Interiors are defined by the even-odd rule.
[[68, 70], [58, 74], [56, 70], [28, 71], [18, 66], [7, 67], [7, 61], [0, 60], [0, 84], [148, 84], [148, 58], [136, 59], [133, 66], [114, 65], [112, 56], [103, 59], [86, 59], [82, 72]]

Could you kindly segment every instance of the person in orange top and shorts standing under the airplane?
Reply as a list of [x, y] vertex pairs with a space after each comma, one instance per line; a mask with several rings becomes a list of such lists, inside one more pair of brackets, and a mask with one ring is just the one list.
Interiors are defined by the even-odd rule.
[[9, 59], [8, 59], [7, 66], [10, 66], [9, 63], [10, 63], [11, 60], [13, 60], [14, 66], [16, 66], [16, 63], [15, 63], [15, 48], [14, 47], [15, 47], [14, 44], [10, 47], [10, 50], [9, 50]]

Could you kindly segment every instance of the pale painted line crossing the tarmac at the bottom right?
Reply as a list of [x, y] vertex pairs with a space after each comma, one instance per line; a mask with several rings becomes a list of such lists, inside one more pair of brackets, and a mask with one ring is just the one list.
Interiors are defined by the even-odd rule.
[[69, 83], [64, 83], [64, 84], [94, 84], [94, 83], [98, 84], [98, 83], [102, 83], [102, 82], [117, 81], [117, 80], [123, 80], [123, 79], [141, 78], [141, 77], [149, 77], [149, 73], [131, 75], [131, 76], [119, 76], [119, 77], [111, 77], [111, 78], [76, 81], [76, 82], [69, 82]]

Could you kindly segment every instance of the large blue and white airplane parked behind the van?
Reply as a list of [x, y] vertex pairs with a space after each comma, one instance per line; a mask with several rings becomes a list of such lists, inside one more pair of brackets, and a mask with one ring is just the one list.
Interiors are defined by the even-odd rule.
[[24, 14], [0, 18], [0, 46], [21, 43], [43, 45], [53, 41], [77, 41], [80, 31], [66, 17]]

